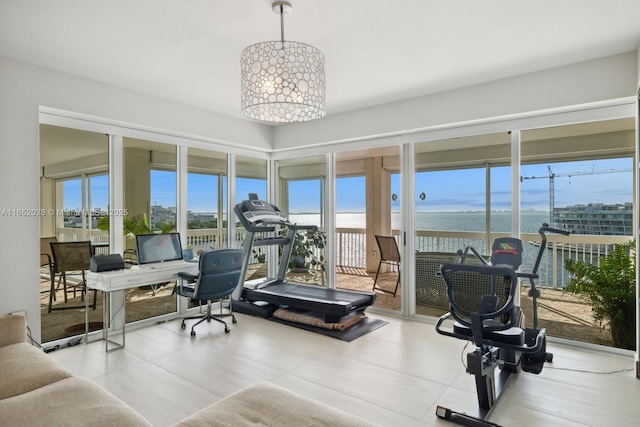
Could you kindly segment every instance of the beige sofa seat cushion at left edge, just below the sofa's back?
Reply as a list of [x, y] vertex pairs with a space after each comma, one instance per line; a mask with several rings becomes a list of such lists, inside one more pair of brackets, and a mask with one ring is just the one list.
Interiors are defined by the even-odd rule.
[[0, 399], [70, 377], [71, 372], [26, 342], [0, 347]]

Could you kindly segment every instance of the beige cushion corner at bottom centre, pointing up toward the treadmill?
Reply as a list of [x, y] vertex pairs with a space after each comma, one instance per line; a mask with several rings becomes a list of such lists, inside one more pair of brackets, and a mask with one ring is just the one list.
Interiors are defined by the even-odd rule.
[[375, 425], [268, 381], [260, 381], [207, 406], [174, 427]]

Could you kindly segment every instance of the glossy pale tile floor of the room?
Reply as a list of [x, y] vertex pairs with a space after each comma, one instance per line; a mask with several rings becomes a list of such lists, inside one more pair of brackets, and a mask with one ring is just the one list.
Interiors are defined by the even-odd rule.
[[[104, 341], [51, 357], [104, 386], [154, 426], [169, 426], [258, 380], [383, 426], [444, 426], [436, 405], [474, 413], [473, 377], [461, 362], [465, 342], [434, 325], [388, 317], [351, 342], [238, 314], [225, 334], [217, 323], [189, 336], [178, 320], [127, 332], [126, 347]], [[633, 355], [549, 343], [554, 361], [540, 375], [512, 378], [491, 420], [503, 426], [640, 425], [640, 380]], [[606, 373], [605, 373], [606, 372]], [[608, 373], [613, 372], [613, 373]]]

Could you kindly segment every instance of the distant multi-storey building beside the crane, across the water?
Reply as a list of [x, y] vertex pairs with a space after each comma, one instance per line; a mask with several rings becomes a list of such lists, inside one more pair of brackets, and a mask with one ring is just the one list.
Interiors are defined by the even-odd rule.
[[589, 203], [553, 210], [555, 227], [571, 234], [632, 236], [633, 204]]

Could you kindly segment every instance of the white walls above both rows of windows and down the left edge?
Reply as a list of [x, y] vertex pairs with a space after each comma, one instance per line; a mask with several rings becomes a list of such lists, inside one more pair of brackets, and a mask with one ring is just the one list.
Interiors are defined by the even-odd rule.
[[[271, 128], [0, 57], [0, 212], [39, 206], [40, 106], [269, 150], [629, 97], [637, 81], [629, 53]], [[0, 227], [0, 314], [27, 310], [39, 339], [39, 219], [4, 215]]]

